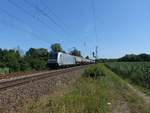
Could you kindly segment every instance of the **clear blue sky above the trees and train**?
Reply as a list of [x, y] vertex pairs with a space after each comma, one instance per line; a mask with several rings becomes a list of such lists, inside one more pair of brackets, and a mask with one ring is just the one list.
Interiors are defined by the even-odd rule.
[[84, 56], [91, 56], [96, 45], [99, 57], [150, 53], [149, 0], [94, 0], [95, 19], [91, 1], [0, 0], [0, 48], [49, 49], [58, 42]]

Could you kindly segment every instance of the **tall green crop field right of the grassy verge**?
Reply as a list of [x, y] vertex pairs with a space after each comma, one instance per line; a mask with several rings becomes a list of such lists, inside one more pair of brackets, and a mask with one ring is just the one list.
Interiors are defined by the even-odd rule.
[[150, 62], [116, 62], [106, 66], [122, 78], [150, 89]]

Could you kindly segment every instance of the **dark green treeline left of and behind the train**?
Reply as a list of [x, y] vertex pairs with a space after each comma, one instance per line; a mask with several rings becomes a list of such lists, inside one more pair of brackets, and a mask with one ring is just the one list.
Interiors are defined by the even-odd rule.
[[[45, 48], [30, 48], [24, 54], [20, 49], [0, 49], [0, 68], [9, 68], [10, 72], [47, 69], [49, 54], [64, 52], [59, 43], [52, 44], [50, 51]], [[70, 51], [71, 55], [82, 56], [77, 49]]]

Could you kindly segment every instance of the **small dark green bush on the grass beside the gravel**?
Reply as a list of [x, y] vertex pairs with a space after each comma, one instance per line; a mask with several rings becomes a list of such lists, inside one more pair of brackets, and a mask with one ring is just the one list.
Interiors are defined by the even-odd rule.
[[97, 77], [104, 76], [104, 74], [101, 71], [101, 68], [98, 65], [95, 65], [95, 66], [89, 67], [88, 69], [85, 69], [83, 76], [97, 78]]

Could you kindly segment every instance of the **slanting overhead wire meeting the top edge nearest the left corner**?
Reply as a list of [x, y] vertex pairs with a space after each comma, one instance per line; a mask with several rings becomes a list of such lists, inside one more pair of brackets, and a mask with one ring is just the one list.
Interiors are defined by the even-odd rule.
[[55, 31], [54, 29], [52, 29], [52, 27], [49, 24], [44, 23], [40, 18], [37, 18], [36, 16], [32, 15], [32, 13], [30, 13], [29, 11], [27, 11], [25, 8], [21, 7], [20, 5], [18, 5], [17, 3], [15, 3], [12, 0], [7, 0], [10, 4], [12, 4], [14, 7], [22, 10], [24, 13], [26, 13], [27, 15], [29, 15], [30, 17], [32, 17], [33, 19], [36, 19], [37, 21], [39, 21], [41, 24], [43, 24], [44, 26], [47, 26], [49, 29], [51, 29], [53, 32], [57, 33], [57, 31]]

